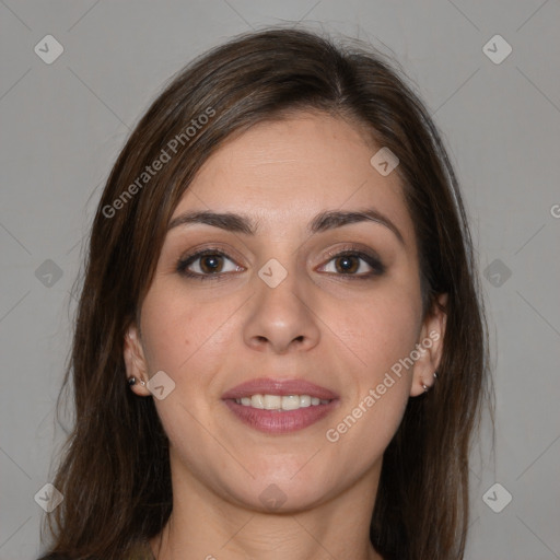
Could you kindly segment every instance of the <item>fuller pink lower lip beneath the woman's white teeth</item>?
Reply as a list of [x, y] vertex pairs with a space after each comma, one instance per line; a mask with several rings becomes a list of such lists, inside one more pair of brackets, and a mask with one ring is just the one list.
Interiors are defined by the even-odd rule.
[[338, 399], [332, 399], [327, 405], [312, 405], [285, 411], [246, 407], [237, 405], [233, 399], [225, 399], [224, 402], [242, 422], [255, 430], [266, 433], [291, 433], [325, 418], [338, 405]]

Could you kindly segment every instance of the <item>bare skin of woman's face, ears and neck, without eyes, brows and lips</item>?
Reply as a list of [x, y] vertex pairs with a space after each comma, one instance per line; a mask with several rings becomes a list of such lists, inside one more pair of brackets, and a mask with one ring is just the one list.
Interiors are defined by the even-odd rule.
[[[159, 560], [382, 558], [369, 525], [383, 453], [408, 399], [434, 382], [445, 315], [423, 320], [412, 220], [397, 173], [384, 177], [370, 164], [378, 148], [355, 125], [323, 114], [259, 124], [224, 143], [176, 207], [173, 218], [191, 210], [244, 213], [259, 230], [170, 230], [140, 325], [126, 336], [127, 376], [148, 382], [164, 371], [175, 383], [162, 400], [140, 383], [132, 386], [154, 398], [171, 442], [174, 510], [151, 540]], [[322, 211], [371, 207], [404, 243], [373, 221], [305, 231]], [[343, 258], [328, 256], [348, 244], [375, 252], [385, 272], [363, 278], [372, 268], [360, 257], [346, 264], [348, 272]], [[177, 272], [190, 249], [209, 245], [228, 254], [218, 257], [221, 280]], [[271, 258], [288, 272], [276, 288], [258, 276]], [[207, 257], [189, 269], [209, 277], [212, 266]], [[413, 368], [394, 376], [337, 442], [327, 441], [327, 430], [430, 331], [440, 339]], [[339, 406], [299, 432], [258, 432], [221, 397], [261, 376], [323, 385], [338, 394]], [[273, 511], [259, 500], [271, 483], [285, 497]]]

